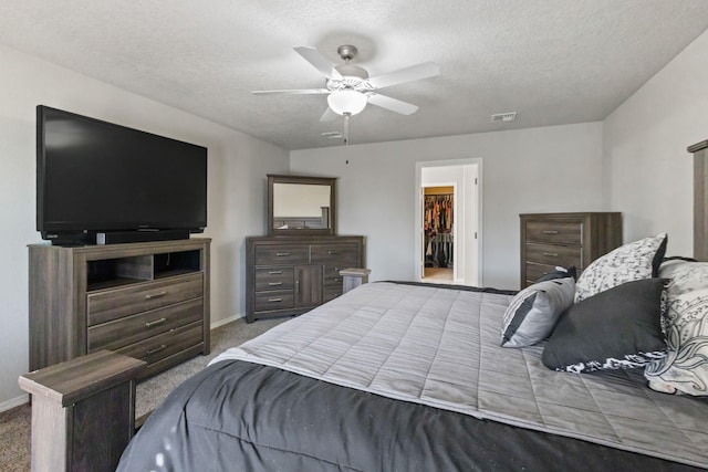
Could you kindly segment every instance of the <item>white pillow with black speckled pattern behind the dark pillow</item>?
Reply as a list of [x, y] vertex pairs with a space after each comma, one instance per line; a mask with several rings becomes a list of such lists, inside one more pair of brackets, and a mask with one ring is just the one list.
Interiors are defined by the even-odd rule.
[[575, 302], [625, 282], [656, 277], [666, 253], [666, 233], [645, 238], [594, 260], [575, 284]]

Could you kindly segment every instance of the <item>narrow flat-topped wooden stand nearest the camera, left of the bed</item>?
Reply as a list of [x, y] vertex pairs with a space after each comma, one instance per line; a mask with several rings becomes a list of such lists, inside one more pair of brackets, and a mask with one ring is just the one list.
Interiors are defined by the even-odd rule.
[[32, 395], [32, 471], [114, 471], [135, 432], [145, 366], [100, 350], [20, 376]]

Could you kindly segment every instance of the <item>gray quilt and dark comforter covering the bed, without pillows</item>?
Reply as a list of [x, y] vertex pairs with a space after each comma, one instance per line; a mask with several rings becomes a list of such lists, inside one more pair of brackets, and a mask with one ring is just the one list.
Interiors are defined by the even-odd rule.
[[708, 405], [499, 347], [510, 295], [373, 283], [219, 356], [119, 470], [693, 470]]

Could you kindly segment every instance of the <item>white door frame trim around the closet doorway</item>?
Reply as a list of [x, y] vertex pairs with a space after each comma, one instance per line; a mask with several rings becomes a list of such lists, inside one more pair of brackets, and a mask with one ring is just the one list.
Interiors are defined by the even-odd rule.
[[[431, 167], [458, 167], [458, 166], [477, 166], [477, 183], [464, 181], [461, 186], [456, 186], [456, 193], [469, 195], [469, 191], [475, 192], [476, 197], [476, 216], [477, 224], [475, 231], [465, 232], [465, 244], [467, 248], [476, 247], [476, 279], [478, 286], [483, 286], [482, 282], [482, 159], [481, 158], [461, 158], [461, 159], [445, 159], [445, 160], [427, 160], [416, 162], [416, 188], [415, 188], [415, 241], [414, 241], [414, 254], [415, 254], [415, 280], [423, 281], [423, 169]], [[458, 198], [456, 197], [456, 200]], [[457, 201], [456, 201], [457, 211]], [[456, 229], [456, 232], [458, 230]], [[475, 233], [477, 239], [475, 240]], [[471, 240], [470, 240], [471, 239]], [[470, 242], [471, 241], [471, 242]], [[456, 241], [457, 243], [457, 241]], [[466, 268], [466, 271], [471, 269]], [[456, 269], [457, 273], [457, 269]], [[458, 281], [456, 281], [458, 282]]]

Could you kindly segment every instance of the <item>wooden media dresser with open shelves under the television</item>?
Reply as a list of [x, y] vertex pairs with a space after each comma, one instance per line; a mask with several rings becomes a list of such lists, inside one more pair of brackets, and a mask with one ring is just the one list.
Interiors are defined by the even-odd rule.
[[30, 245], [30, 370], [108, 349], [148, 377], [209, 354], [209, 247]]

